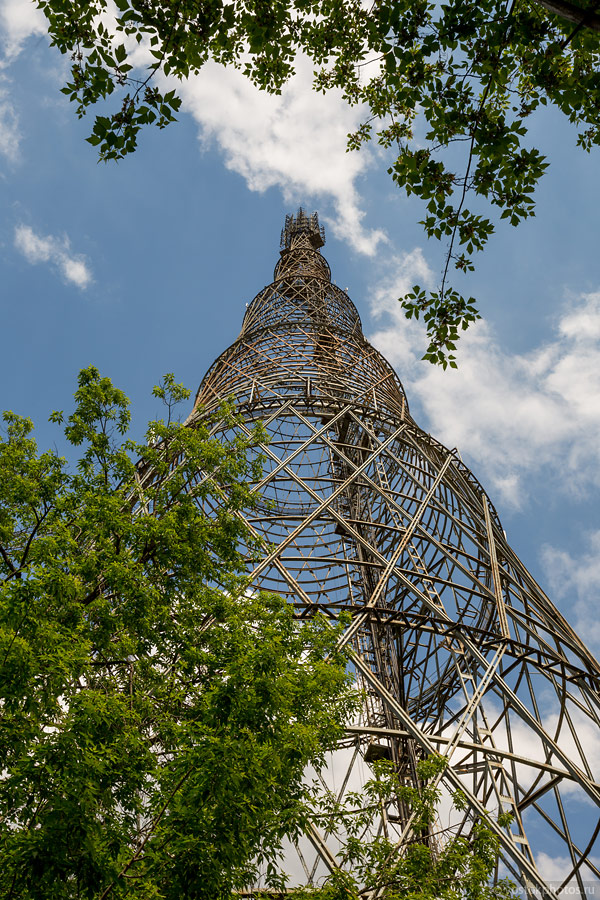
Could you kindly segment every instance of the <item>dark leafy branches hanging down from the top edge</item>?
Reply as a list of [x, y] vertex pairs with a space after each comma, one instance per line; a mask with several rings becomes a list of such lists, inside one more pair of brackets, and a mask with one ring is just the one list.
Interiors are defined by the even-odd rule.
[[417, 285], [401, 301], [427, 325], [424, 358], [444, 367], [479, 318], [451, 275], [473, 269], [494, 231], [487, 207], [512, 225], [534, 215], [548, 164], [525, 143], [531, 114], [554, 105], [580, 146], [600, 142], [596, 0], [115, 0], [114, 17], [108, 0], [37, 2], [52, 43], [71, 56], [63, 90], [78, 114], [110, 101], [88, 138], [101, 159], [135, 150], [145, 125], [172, 122], [174, 83], [209, 59], [277, 93], [304, 53], [317, 90], [364, 104], [349, 148], [372, 139], [390, 148], [393, 181], [423, 201], [427, 236], [446, 244], [437, 290]]

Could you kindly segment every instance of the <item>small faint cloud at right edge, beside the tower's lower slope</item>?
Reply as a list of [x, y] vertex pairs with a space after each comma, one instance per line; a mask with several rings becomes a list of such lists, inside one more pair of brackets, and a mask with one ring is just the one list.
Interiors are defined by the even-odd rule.
[[542, 564], [555, 596], [575, 619], [575, 630], [585, 635], [587, 644], [600, 648], [600, 531], [586, 537], [578, 556], [550, 544], [542, 547]]

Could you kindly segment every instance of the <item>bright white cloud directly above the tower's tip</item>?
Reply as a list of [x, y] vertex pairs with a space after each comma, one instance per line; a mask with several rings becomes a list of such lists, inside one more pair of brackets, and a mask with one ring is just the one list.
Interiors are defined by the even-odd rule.
[[235, 69], [209, 63], [177, 89], [201, 139], [216, 141], [225, 165], [242, 175], [250, 190], [278, 187], [288, 203], [329, 201], [333, 214], [323, 219], [332, 232], [371, 256], [386, 240], [382, 231], [362, 224], [357, 181], [372, 156], [368, 150], [346, 152], [347, 135], [363, 112], [349, 107], [339, 92], [315, 93], [311, 82], [311, 65], [304, 59], [278, 96], [258, 90]]

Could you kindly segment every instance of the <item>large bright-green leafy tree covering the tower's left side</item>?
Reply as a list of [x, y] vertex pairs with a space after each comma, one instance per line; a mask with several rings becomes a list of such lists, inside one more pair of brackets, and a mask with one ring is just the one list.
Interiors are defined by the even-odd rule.
[[[171, 421], [83, 370], [73, 469], [0, 440], [0, 895], [219, 900], [273, 872], [353, 702], [336, 634], [253, 594], [251, 441]], [[224, 406], [221, 423], [232, 424]], [[227, 486], [227, 491], [223, 487]]]

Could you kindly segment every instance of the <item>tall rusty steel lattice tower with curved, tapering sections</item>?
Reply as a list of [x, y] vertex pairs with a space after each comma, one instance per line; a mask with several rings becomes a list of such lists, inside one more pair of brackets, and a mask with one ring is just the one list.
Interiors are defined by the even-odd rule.
[[[420, 758], [443, 754], [446, 788], [467, 800], [458, 828], [485, 810], [513, 816], [491, 826], [500, 874], [533, 896], [590, 893], [600, 667], [508, 545], [474, 475], [411, 417], [332, 284], [323, 243], [316, 214], [287, 217], [274, 280], [204, 378], [190, 421], [234, 395], [247, 426], [269, 433], [264, 502], [248, 517], [268, 547], [253, 585], [300, 617], [350, 614], [342, 640], [364, 704], [333, 754], [335, 790], [368, 777], [374, 759], [410, 783]], [[382, 827], [402, 852], [400, 806], [382, 809]], [[338, 864], [339, 840], [311, 827], [290, 848], [294, 878], [317, 883]]]

